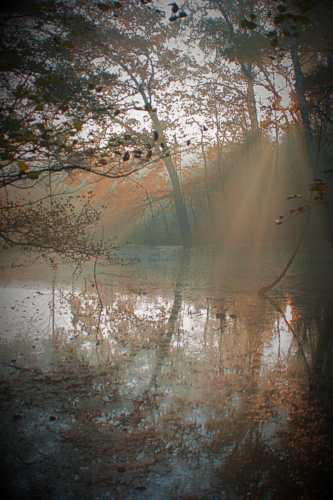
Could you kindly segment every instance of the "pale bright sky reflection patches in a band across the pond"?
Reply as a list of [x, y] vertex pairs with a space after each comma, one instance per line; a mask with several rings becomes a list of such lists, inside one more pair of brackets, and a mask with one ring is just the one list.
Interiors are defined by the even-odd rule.
[[[82, 295], [82, 291], [80, 292]], [[68, 291], [55, 290], [52, 296], [52, 288], [26, 286], [6, 286], [0, 288], [1, 298], [1, 338], [6, 342], [14, 342], [18, 339], [26, 342], [29, 339], [42, 342], [47, 340], [54, 331], [73, 340], [73, 321], [75, 319], [71, 301], [80, 298], [80, 293], [70, 294]], [[67, 297], [67, 298], [66, 298]], [[112, 355], [128, 356], [126, 345], [121, 348], [114, 339], [117, 329], [124, 329], [125, 333], [140, 335], [142, 328], [153, 326], [163, 328], [167, 326], [173, 304], [172, 297], [155, 294], [122, 294], [115, 293], [111, 297], [111, 303], [106, 302], [101, 311], [99, 335], [104, 341], [109, 342]], [[133, 315], [137, 322], [128, 322], [124, 327], [124, 310], [128, 304], [132, 304]], [[52, 307], [54, 304], [54, 316]], [[87, 313], [90, 306], [96, 306], [97, 295], [86, 301], [80, 302], [80, 311]], [[237, 305], [237, 303], [236, 303]], [[76, 311], [77, 312], [77, 311]], [[123, 316], [121, 317], [121, 314]], [[97, 317], [94, 312], [95, 320]], [[285, 307], [285, 318], [292, 321], [292, 306]], [[132, 318], [133, 319], [133, 318]], [[97, 320], [96, 320], [97, 321]], [[76, 335], [83, 336], [80, 342], [81, 354], [90, 362], [96, 363], [96, 345], [93, 329], [90, 331], [85, 327], [84, 321], [76, 321]], [[74, 333], [75, 333], [74, 332]], [[223, 355], [230, 357], [232, 349], [237, 349], [239, 339], [247, 335], [244, 325], [237, 320], [225, 315], [223, 329], [216, 319], [216, 308], [207, 303], [206, 307], [186, 300], [182, 301], [178, 317], [173, 325], [170, 339], [170, 350], [168, 356], [179, 352], [182, 356], [188, 356], [196, 360], [202, 360], [210, 356], [210, 349], [218, 349], [223, 338]], [[291, 354], [295, 354], [297, 346], [293, 343], [293, 335], [285, 319], [279, 317], [274, 321], [271, 334], [266, 334], [266, 341], [262, 350], [262, 370], [273, 370], [277, 364], [287, 362]], [[149, 342], [149, 334], [148, 334]], [[149, 347], [149, 344], [148, 344]], [[221, 347], [221, 346], [220, 346]], [[216, 352], [215, 352], [216, 354]], [[138, 369], [148, 370], [147, 350], [136, 353], [132, 365]], [[149, 356], [151, 358], [151, 355]], [[151, 363], [151, 359], [149, 359]], [[138, 368], [140, 367], [140, 368]]]

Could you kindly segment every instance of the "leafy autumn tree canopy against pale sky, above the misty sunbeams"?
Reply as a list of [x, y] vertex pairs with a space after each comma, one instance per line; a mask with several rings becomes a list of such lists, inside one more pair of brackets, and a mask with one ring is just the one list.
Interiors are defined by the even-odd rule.
[[[59, 173], [78, 186], [101, 178], [118, 185], [129, 176], [144, 185], [150, 175], [169, 186], [162, 198], [145, 195], [150, 210], [160, 207], [166, 222], [171, 197], [187, 245], [202, 210], [216, 222], [219, 206], [223, 226], [233, 200], [244, 198], [245, 185], [243, 194], [231, 188], [233, 176], [239, 180], [229, 162], [244, 146], [249, 164], [260, 137], [278, 147], [299, 127], [314, 177], [329, 177], [331, 2], [175, 5], [36, 0], [2, 7], [0, 188], [32, 189]], [[258, 175], [246, 172], [247, 183]], [[330, 179], [312, 187], [325, 183], [317, 198], [327, 203]]]

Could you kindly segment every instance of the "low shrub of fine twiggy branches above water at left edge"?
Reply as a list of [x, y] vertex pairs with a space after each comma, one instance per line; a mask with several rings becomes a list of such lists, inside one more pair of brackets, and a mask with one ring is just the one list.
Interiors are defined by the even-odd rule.
[[[114, 243], [96, 234], [100, 212], [92, 206], [92, 193], [66, 200], [17, 202], [0, 199], [2, 248], [38, 250], [54, 263], [56, 256], [80, 266], [92, 258], [114, 259]], [[100, 227], [102, 229], [102, 227]]]

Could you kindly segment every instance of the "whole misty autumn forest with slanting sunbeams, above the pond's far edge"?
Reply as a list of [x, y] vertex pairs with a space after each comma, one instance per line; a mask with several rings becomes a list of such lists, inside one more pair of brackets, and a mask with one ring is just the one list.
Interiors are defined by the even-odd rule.
[[332, 243], [333, 2], [14, 1], [0, 14], [0, 240]]

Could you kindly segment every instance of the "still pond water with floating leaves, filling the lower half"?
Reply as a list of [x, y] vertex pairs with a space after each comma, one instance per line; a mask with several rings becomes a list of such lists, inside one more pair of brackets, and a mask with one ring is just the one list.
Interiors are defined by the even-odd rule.
[[121, 255], [2, 273], [4, 497], [331, 498], [329, 254]]

